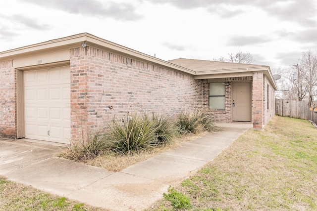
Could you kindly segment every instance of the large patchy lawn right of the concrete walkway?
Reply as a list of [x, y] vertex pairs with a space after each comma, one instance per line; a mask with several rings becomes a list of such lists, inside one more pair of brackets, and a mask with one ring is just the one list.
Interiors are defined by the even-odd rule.
[[149, 211], [317, 210], [317, 129], [275, 116], [164, 198]]

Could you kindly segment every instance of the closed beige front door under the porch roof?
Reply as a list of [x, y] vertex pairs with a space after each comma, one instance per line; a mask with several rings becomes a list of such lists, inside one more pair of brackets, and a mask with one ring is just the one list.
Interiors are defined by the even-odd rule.
[[251, 82], [232, 83], [232, 121], [251, 122]]

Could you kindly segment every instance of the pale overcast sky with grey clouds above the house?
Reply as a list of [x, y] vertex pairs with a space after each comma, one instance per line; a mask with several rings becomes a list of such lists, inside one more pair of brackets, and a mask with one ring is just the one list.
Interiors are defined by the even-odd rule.
[[0, 0], [0, 52], [84, 32], [163, 60], [240, 50], [285, 68], [317, 51], [317, 0]]

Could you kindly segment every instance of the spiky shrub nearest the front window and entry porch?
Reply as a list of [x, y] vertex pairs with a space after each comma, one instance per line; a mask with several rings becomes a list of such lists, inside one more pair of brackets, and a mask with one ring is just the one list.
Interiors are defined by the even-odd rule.
[[204, 130], [211, 132], [217, 129], [214, 126], [213, 118], [208, 113], [208, 109], [204, 107], [196, 107], [190, 111], [182, 111], [177, 116], [176, 125], [181, 134], [187, 132], [197, 133]]

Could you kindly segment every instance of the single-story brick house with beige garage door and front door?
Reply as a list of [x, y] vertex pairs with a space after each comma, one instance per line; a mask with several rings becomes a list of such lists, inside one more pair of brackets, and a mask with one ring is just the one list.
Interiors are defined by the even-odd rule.
[[131, 109], [198, 105], [216, 122], [262, 128], [275, 90], [265, 65], [164, 61], [83, 33], [0, 52], [0, 137], [69, 143]]

